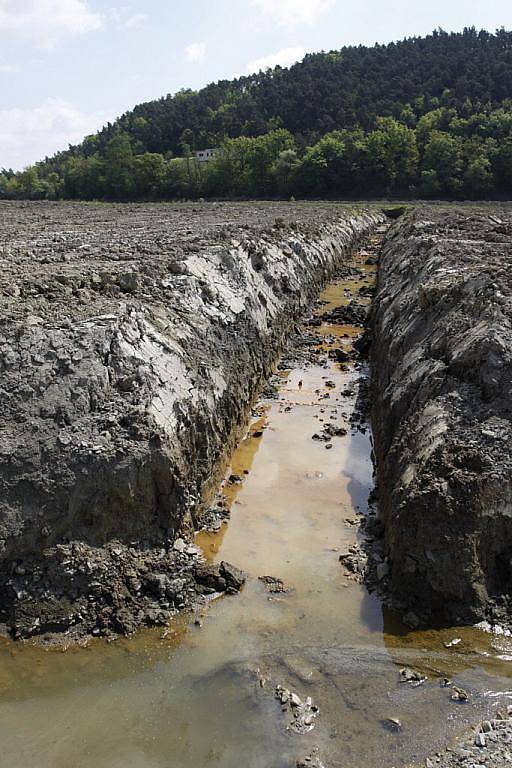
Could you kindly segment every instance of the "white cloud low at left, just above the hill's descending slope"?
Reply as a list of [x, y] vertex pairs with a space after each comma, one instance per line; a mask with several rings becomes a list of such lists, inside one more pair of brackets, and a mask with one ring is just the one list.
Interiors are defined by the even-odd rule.
[[19, 170], [78, 144], [112, 116], [87, 114], [61, 99], [32, 108], [0, 109], [0, 168]]

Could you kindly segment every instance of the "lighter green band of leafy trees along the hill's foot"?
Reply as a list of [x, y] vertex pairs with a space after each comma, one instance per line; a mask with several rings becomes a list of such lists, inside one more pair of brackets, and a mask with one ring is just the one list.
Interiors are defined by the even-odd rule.
[[[224, 139], [208, 162], [137, 152], [118, 130], [104, 150], [0, 174], [0, 196], [22, 199], [419, 196], [485, 198], [512, 193], [512, 102], [460, 114], [439, 107], [379, 117], [373, 129], [330, 131], [302, 148], [285, 128]], [[186, 138], [186, 137], [185, 137]]]

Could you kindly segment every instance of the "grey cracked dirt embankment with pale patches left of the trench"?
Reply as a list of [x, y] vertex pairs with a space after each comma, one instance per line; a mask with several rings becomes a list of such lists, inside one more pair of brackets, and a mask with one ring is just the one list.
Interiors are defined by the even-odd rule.
[[127, 632], [240, 586], [176, 537], [200, 524], [290, 324], [381, 219], [337, 205], [0, 205], [8, 631]]

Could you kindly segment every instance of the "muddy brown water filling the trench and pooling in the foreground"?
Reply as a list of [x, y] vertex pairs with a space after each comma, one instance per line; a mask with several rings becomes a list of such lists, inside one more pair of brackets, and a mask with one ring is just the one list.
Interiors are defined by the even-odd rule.
[[[372, 283], [364, 262], [354, 257], [361, 276], [334, 281], [320, 312]], [[348, 347], [359, 332], [304, 330], [323, 351]], [[229, 524], [198, 536], [207, 557], [248, 573], [242, 594], [212, 603], [199, 621], [111, 644], [62, 653], [4, 643], [0, 766], [290, 768], [311, 754], [327, 768], [401, 766], [512, 698], [509, 639], [411, 632], [347, 577], [339, 556], [358, 536], [372, 483], [369, 432], [350, 425], [364, 371], [311, 357], [279, 372], [277, 399], [259, 405], [233, 457], [228, 476], [243, 481], [224, 489]], [[327, 421], [347, 434], [313, 440]], [[270, 593], [262, 576], [287, 591]], [[404, 664], [427, 682], [401, 684]], [[453, 703], [442, 676], [471, 703]], [[276, 700], [277, 685], [319, 707], [309, 733], [287, 729], [293, 715]]]

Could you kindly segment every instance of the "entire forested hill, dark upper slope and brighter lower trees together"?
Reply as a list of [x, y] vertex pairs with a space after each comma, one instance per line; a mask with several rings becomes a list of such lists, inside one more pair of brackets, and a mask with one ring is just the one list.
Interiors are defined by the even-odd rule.
[[512, 32], [438, 31], [141, 104], [0, 195], [504, 194], [511, 131]]

